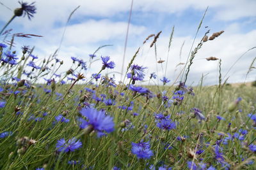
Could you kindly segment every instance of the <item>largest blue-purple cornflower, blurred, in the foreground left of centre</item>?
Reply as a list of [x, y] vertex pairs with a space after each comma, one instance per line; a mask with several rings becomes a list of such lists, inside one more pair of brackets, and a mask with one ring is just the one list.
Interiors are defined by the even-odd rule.
[[[103, 136], [104, 134], [114, 131], [114, 122], [113, 118], [106, 116], [105, 111], [98, 111], [95, 108], [83, 108], [80, 111], [83, 117], [86, 117], [86, 120], [80, 119], [82, 129], [86, 127], [91, 127], [91, 131], [97, 131], [98, 137]], [[89, 128], [90, 128], [89, 127]]]

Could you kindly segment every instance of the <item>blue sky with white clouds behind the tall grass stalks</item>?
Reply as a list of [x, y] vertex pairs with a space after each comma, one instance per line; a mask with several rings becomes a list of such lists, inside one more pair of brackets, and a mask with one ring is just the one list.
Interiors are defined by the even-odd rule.
[[[42, 60], [54, 53], [60, 46], [68, 16], [77, 6], [80, 6], [68, 22], [58, 52], [57, 58], [64, 61], [60, 73], [69, 69], [72, 62], [70, 57], [88, 60], [89, 54], [99, 46], [111, 45], [96, 53], [96, 59], [99, 60], [93, 62], [92, 68], [86, 75], [90, 76], [100, 70], [102, 65], [100, 56], [110, 56], [111, 60], [116, 63], [116, 67], [114, 70], [104, 70], [102, 74], [115, 74], [116, 80], [119, 81], [131, 3], [131, 0], [35, 1], [37, 8], [35, 16], [31, 20], [28, 20], [28, 17], [17, 17], [8, 25], [7, 29], [13, 29], [13, 33], [22, 32], [43, 36], [42, 38], [15, 39], [17, 52], [20, 51], [22, 45], [35, 46], [33, 54], [38, 55]], [[208, 10], [202, 26], [196, 35], [207, 6]], [[13, 10], [19, 7], [18, 1], [0, 0], [0, 27], [8, 22], [13, 15]], [[202, 48], [198, 50], [188, 75], [188, 84], [197, 85], [202, 75], [204, 75], [205, 85], [218, 84], [219, 60], [207, 61], [205, 59], [211, 56], [221, 59], [223, 81], [228, 78], [230, 83], [244, 82], [246, 72], [256, 57], [256, 48], [243, 55], [244, 52], [256, 46], [255, 9], [255, 0], [134, 0], [124, 70], [140, 47], [134, 64], [147, 67], [145, 80], [148, 80], [150, 73], [153, 72], [157, 73], [158, 80], [163, 78], [166, 69], [165, 76], [171, 80], [171, 83], [174, 83], [175, 80], [180, 81], [180, 77], [177, 76], [184, 65], [177, 66], [177, 64], [186, 62], [190, 50], [195, 49], [205, 32], [210, 30], [209, 36], [211, 36], [214, 32], [225, 31], [213, 41], [203, 43]], [[172, 44], [168, 53], [173, 26]], [[163, 68], [161, 64], [157, 63], [154, 46], [150, 48], [153, 39], [150, 38], [147, 43], [143, 44], [148, 35], [157, 34], [159, 31], [162, 33], [156, 42], [156, 53], [157, 60], [165, 60]], [[193, 44], [194, 38], [195, 43]], [[0, 41], [2, 39], [0, 38]], [[239, 57], [241, 59], [236, 62], [234, 67], [231, 67]], [[228, 71], [229, 69], [230, 71]], [[256, 69], [250, 72], [246, 81], [255, 79]], [[148, 83], [148, 81], [144, 83]]]

